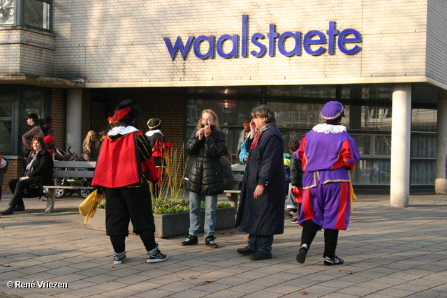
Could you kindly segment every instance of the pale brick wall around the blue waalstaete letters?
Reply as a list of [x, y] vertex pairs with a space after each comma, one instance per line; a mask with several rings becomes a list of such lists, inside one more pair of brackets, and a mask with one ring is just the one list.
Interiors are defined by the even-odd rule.
[[[240, 80], [265, 80], [265, 84], [290, 84], [294, 80], [420, 76], [426, 74], [427, 3], [437, 3], [430, 6], [441, 8], [436, 17], [445, 22], [444, 2], [137, 0], [123, 5], [119, 0], [101, 4], [59, 0], [54, 3], [56, 75], [87, 77], [87, 83], [155, 82], [170, 86], [180, 86], [183, 81], [237, 84]], [[180, 36], [185, 43], [189, 36], [213, 35], [217, 39], [223, 34], [241, 35], [244, 14], [249, 15], [249, 38], [257, 32], [266, 35], [270, 24], [276, 25], [278, 33], [325, 33], [328, 23], [335, 21], [340, 31], [360, 31], [362, 50], [346, 55], [336, 47], [335, 54], [326, 51], [316, 57], [304, 50], [298, 57], [284, 57], [276, 50], [274, 57], [249, 54], [243, 58], [239, 48], [237, 58], [223, 59], [215, 53], [214, 59], [206, 60], [198, 59], [190, 50], [185, 60], [180, 55], [175, 60], [170, 58], [163, 38], [174, 43]], [[261, 42], [268, 45], [268, 38]], [[291, 38], [285, 44], [291, 50]], [[202, 43], [201, 51], [206, 52], [206, 47], [207, 43]], [[258, 50], [250, 42], [248, 47], [249, 52]], [[437, 59], [447, 61], [445, 51], [437, 48], [434, 53]], [[447, 82], [440, 68], [433, 68], [427, 75]]]

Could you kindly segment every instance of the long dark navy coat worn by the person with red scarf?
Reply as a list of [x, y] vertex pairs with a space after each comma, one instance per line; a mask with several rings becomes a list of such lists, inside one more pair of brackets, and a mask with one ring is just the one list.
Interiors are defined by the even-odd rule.
[[[236, 227], [242, 232], [256, 235], [284, 232], [283, 142], [279, 129], [272, 127], [263, 132], [256, 149], [249, 151], [236, 218]], [[265, 188], [261, 198], [255, 199], [254, 190], [258, 184]]]

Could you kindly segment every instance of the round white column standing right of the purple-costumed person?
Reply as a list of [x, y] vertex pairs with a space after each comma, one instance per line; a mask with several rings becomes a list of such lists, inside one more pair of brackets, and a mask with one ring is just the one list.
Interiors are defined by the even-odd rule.
[[411, 85], [393, 87], [390, 205], [408, 207], [410, 194]]

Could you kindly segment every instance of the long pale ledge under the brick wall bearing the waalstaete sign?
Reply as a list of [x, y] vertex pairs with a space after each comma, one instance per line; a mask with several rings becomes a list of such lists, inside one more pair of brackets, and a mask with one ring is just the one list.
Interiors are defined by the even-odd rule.
[[410, 84], [427, 83], [447, 90], [443, 84], [430, 77], [347, 77], [302, 80], [203, 80], [203, 81], [150, 81], [150, 82], [87, 82], [87, 88], [138, 88], [138, 87], [212, 87], [258, 85], [332, 85], [332, 84]]

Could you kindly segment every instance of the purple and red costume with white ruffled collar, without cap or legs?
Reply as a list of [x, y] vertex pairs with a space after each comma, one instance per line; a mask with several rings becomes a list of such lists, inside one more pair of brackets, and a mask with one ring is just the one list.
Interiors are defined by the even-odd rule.
[[305, 172], [299, 222], [312, 220], [322, 228], [346, 230], [351, 198], [348, 170], [360, 161], [356, 141], [344, 126], [319, 124], [302, 137], [295, 156]]

